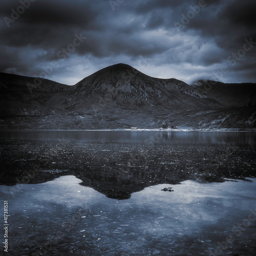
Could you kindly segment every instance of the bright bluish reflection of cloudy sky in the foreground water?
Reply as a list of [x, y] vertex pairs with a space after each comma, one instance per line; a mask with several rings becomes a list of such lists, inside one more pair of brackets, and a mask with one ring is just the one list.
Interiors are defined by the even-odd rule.
[[[222, 254], [255, 255], [256, 183], [251, 181], [184, 181], [170, 193], [161, 190], [167, 184], [159, 184], [130, 200], [106, 198], [79, 185], [74, 176], [26, 184], [15, 197], [0, 186], [11, 202], [10, 253], [208, 255], [232, 236], [233, 243]], [[248, 216], [252, 223], [241, 226], [236, 236], [234, 225], [242, 225]], [[53, 238], [56, 243], [51, 244]]]

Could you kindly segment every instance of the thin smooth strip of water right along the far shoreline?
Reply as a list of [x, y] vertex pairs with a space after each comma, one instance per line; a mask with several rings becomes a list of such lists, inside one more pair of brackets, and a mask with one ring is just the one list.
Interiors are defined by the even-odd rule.
[[176, 132], [176, 131], [1, 131], [0, 140], [115, 140], [115, 141], [205, 141], [212, 143], [238, 142], [255, 145], [254, 132]]

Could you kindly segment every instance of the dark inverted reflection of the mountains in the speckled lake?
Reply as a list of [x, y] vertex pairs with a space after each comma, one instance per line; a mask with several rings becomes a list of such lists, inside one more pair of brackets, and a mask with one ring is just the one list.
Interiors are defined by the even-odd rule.
[[73, 175], [109, 198], [129, 199], [151, 185], [255, 177], [254, 133], [24, 131], [0, 139], [2, 185]]

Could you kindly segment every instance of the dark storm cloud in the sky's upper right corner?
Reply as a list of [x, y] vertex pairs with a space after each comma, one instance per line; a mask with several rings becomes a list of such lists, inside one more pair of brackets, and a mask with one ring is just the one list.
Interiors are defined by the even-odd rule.
[[254, 0], [219, 1], [218, 5], [215, 1], [205, 0], [205, 3], [207, 5], [201, 8], [185, 29], [201, 31], [203, 35], [215, 38], [220, 47], [228, 50], [239, 49], [245, 38], [256, 39]]

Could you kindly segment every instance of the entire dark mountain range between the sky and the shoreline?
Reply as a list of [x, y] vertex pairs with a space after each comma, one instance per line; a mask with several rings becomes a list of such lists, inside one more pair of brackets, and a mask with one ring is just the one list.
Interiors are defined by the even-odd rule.
[[[210, 90], [209, 82], [214, 84]], [[0, 129], [256, 126], [256, 84], [198, 81], [189, 86], [174, 78], [147, 76], [122, 63], [74, 86], [0, 73], [0, 91]]]

